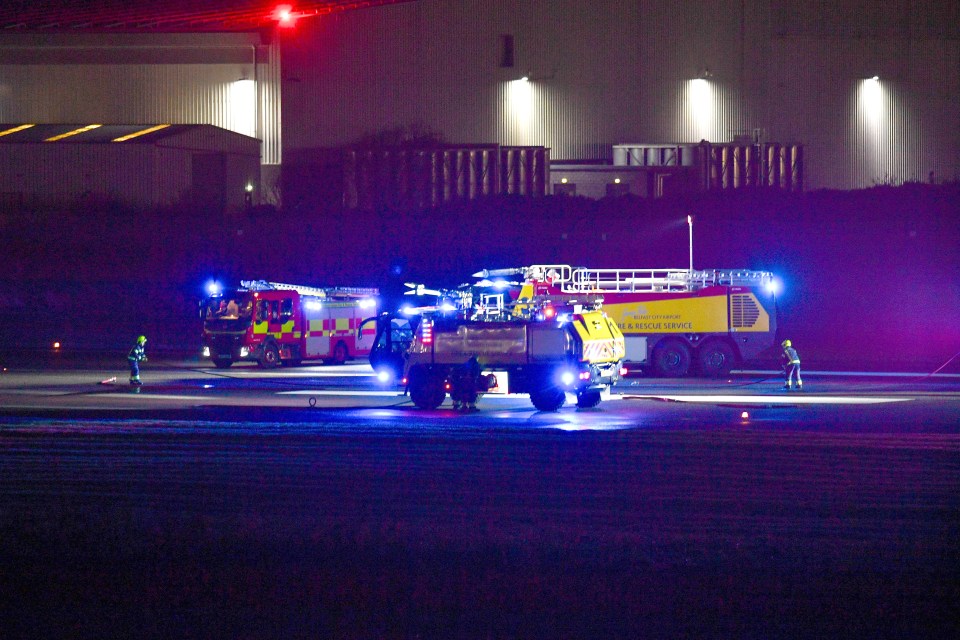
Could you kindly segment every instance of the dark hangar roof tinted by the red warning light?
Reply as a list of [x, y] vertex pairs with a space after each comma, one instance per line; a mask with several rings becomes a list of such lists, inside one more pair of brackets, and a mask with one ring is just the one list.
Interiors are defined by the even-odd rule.
[[5, 0], [0, 34], [252, 31], [294, 20], [410, 0]]

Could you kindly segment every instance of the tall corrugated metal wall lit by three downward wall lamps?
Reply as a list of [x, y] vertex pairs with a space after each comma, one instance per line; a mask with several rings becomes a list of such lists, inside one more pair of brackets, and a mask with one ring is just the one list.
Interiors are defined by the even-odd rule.
[[[868, 6], [869, 5], [869, 6]], [[960, 4], [950, 0], [420, 0], [323, 17], [284, 43], [285, 138], [385, 131], [543, 145], [748, 136], [805, 151], [806, 188], [960, 177]], [[502, 36], [514, 65], [501, 66]], [[880, 76], [868, 135], [861, 81]], [[527, 77], [521, 81], [521, 77]]]

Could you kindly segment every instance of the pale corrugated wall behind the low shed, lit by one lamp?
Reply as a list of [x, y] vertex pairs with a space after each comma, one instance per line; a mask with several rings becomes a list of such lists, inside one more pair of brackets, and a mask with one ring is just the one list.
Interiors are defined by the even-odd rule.
[[259, 34], [3, 35], [0, 121], [211, 124], [279, 164], [279, 52]]

